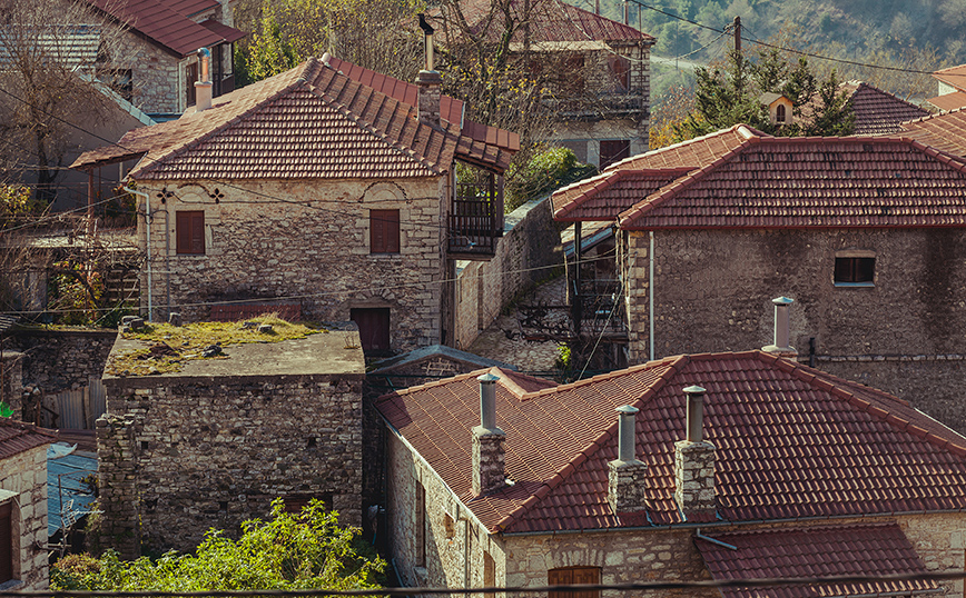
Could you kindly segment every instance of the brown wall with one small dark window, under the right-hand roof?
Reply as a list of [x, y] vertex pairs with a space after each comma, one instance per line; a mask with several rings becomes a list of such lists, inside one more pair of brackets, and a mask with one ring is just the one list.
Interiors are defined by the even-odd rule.
[[[875, 252], [870, 287], [836, 286], [840, 250]], [[621, 247], [630, 363], [648, 359], [648, 233]], [[731, 230], [654, 233], [655, 357], [770, 345], [771, 299], [795, 299], [790, 341], [808, 361], [966, 431], [948, 385], [966, 353], [966, 231]]]

